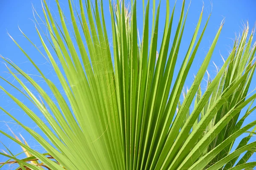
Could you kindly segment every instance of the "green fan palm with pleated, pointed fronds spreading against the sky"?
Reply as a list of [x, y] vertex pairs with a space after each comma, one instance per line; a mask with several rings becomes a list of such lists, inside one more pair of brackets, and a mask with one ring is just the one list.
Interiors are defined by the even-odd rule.
[[[131, 2], [130, 11], [125, 8], [124, 1], [116, 4], [109, 1], [113, 47], [108, 39], [102, 0], [96, 0], [94, 6], [90, 0], [85, 0], [85, 5], [79, 0], [80, 11], [73, 8], [71, 0], [68, 1], [73, 34], [67, 28], [59, 1], [56, 0], [61, 25], [55, 22], [46, 1], [42, 3], [44, 23], [49, 32], [47, 41], [39, 25], [36, 30], [64, 94], [13, 39], [41, 74], [55, 99], [18, 65], [3, 58], [10, 74], [26, 92], [20, 91], [20, 94], [41, 111], [49, 125], [0, 86], [40, 127], [46, 138], [23, 125], [4, 108], [0, 107], [1, 110], [47, 151], [39, 153], [0, 130], [29, 153], [24, 159], [17, 159], [11, 151], [0, 153], [14, 160], [2, 166], [17, 163], [21, 170], [44, 167], [49, 170], [241, 170], [255, 167], [256, 162], [248, 160], [255, 152], [256, 142], [249, 143], [249, 140], [255, 134], [256, 120], [242, 126], [244, 119], [256, 109], [253, 107], [256, 93], [248, 92], [256, 68], [253, 32], [249, 34], [248, 26], [235, 40], [221, 69], [214, 79], [208, 79], [207, 89], [203, 91], [201, 82], [220, 36], [221, 23], [191, 87], [184, 92], [182, 89], [209, 21], [208, 18], [201, 26], [203, 10], [189, 48], [182, 49], [186, 55], [175, 77], [187, 17], [185, 0], [172, 42], [170, 35], [176, 6], [174, 4], [170, 12], [169, 0], [166, 0], [166, 23], [160, 44], [157, 43], [160, 3], [156, 10], [153, 0], [152, 18], [149, 17], [149, 1], [145, 4], [140, 41], [136, 0]], [[149, 20], [152, 20], [151, 35]], [[199, 32], [201, 27], [203, 30]], [[157, 47], [160, 47], [159, 52]], [[36, 97], [11, 68], [23, 76], [40, 97]], [[245, 107], [247, 111], [239, 119]], [[249, 135], [234, 148], [234, 141], [244, 133]], [[244, 156], [239, 157], [244, 152]]]

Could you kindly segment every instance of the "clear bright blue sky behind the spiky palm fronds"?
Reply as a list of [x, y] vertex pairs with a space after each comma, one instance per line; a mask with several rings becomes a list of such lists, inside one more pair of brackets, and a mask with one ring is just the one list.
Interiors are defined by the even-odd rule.
[[[104, 0], [104, 1], [108, 2], [108, 0]], [[142, 0], [138, 0], [138, 1], [140, 2]], [[47, 2], [49, 3], [49, 6], [52, 8], [52, 11], [55, 11], [55, 14], [56, 14], [55, 17], [59, 19], [54, 0], [47, 0]], [[78, 5], [78, 2], [79, 2], [78, 0], [74, 0], [74, 3], [76, 5]], [[170, 0], [171, 8], [173, 7], [174, 2], [175, 0]], [[64, 14], [66, 14], [67, 20], [69, 20], [70, 16], [69, 16], [68, 4], [66, 0], [62, 0], [61, 3], [62, 3], [61, 6], [64, 7], [63, 8]], [[182, 3], [182, 0], [177, 0], [174, 26], [177, 25], [181, 3]], [[34, 59], [35, 63], [37, 63], [39, 67], [43, 69], [43, 72], [47, 74], [47, 77], [55, 81], [56, 77], [54, 72], [52, 71], [52, 67], [38, 53], [38, 51], [35, 48], [33, 48], [33, 46], [26, 40], [26, 38], [22, 36], [22, 34], [18, 29], [18, 26], [20, 26], [20, 28], [32, 40], [32, 42], [34, 42], [40, 48], [41, 42], [35, 31], [35, 24], [32, 21], [34, 19], [33, 13], [32, 13], [32, 4], [35, 6], [38, 14], [41, 17], [43, 17], [40, 0], [0, 0], [0, 54], [3, 55], [4, 57], [11, 59], [18, 66], [20, 66], [20, 68], [24, 69], [26, 73], [37, 74], [37, 72], [35, 72], [35, 69], [32, 67], [32, 65], [28, 62], [28, 59], [26, 59], [23, 53], [17, 48], [15, 43], [12, 42], [11, 38], [9, 38], [7, 34], [7, 31], [8, 31], [9, 34], [11, 34], [12, 37], [15, 40], [17, 40], [18, 43], [20, 43], [20, 45], [30, 55], [30, 57]], [[130, 3], [128, 3], [127, 1], [127, 4], [129, 5]], [[186, 1], [186, 7], [185, 7], [186, 9], [188, 8], [188, 5], [189, 5], [189, 0]], [[201, 12], [202, 5], [203, 5], [202, 0], [192, 0], [191, 2], [190, 8], [189, 8], [189, 15], [186, 22], [185, 32], [183, 34], [183, 40], [180, 47], [180, 53], [177, 59], [176, 68], [178, 68], [178, 66], [183, 61], [184, 54], [186, 53], [189, 42], [192, 38], [192, 34], [195, 30], [195, 26], [197, 24], [199, 14]], [[165, 18], [164, 18], [165, 8], [166, 8], [165, 0], [162, 0], [161, 13], [160, 13], [160, 32], [163, 32], [163, 25], [165, 22]], [[244, 23], [246, 23], [246, 21], [248, 20], [250, 30], [251, 30], [251, 28], [253, 28], [256, 21], [256, 0], [205, 0], [204, 8], [205, 8], [204, 18], [202, 20], [202, 24], [206, 22], [207, 17], [211, 11], [212, 11], [212, 16], [211, 16], [211, 19], [209, 20], [207, 31], [205, 32], [201, 46], [199, 47], [198, 53], [192, 65], [191, 71], [189, 73], [189, 79], [186, 82], [186, 86], [188, 87], [191, 85], [193, 80], [193, 74], [195, 74], [198, 71], [205, 57], [205, 54], [207, 53], [209, 46], [213, 38], [215, 37], [215, 33], [218, 30], [218, 27], [220, 26], [220, 23], [224, 18], [225, 18], [225, 24], [212, 57], [212, 61], [215, 62], [215, 64], [218, 67], [221, 67], [221, 65], [223, 64], [220, 54], [224, 58], [227, 58], [228, 52], [230, 51], [230, 47], [232, 47], [233, 45], [233, 39], [235, 38], [235, 34], [239, 34], [239, 32], [241, 32], [241, 29], [243, 28]], [[141, 33], [142, 32], [142, 16], [141, 16], [142, 12], [140, 11], [140, 9], [142, 9], [142, 6], [141, 6], [141, 3], [138, 3], [138, 26]], [[110, 23], [108, 3], [106, 3], [106, 6], [105, 6], [105, 16], [106, 16], [106, 23]], [[69, 22], [69, 24], [71, 23]], [[42, 22], [40, 22], [40, 26], [42, 26], [43, 30], [45, 31], [45, 28]], [[108, 33], [109, 33], [108, 36], [111, 39], [111, 26], [108, 25], [107, 27], [108, 27]], [[70, 28], [72, 28], [71, 25], [70, 25]], [[140, 36], [142, 36], [142, 34], [140, 34]], [[158, 47], [158, 50], [159, 48], [160, 46]], [[3, 63], [0, 63], [0, 76], [5, 77], [9, 81], [13, 81], [14, 79], [10, 76], [10, 74], [6, 73], [6, 71], [7, 69], [5, 65]], [[209, 65], [208, 71], [212, 75], [212, 77], [215, 76], [216, 70], [212, 62]], [[37, 79], [38, 82], [41, 83], [43, 87], [45, 86], [44, 82], [40, 82], [41, 80], [40, 78], [35, 77], [35, 79]], [[57, 80], [55, 82], [58, 83]], [[18, 85], [17, 82], [14, 82], [14, 84]], [[18, 99], [24, 101], [24, 103], [26, 103], [26, 105], [29, 108], [32, 108], [32, 109], [34, 108], [34, 111], [38, 115], [40, 115], [40, 113], [35, 109], [35, 106], [29, 103], [27, 99], [25, 99], [23, 96], [19, 94], [19, 92], [15, 91], [9, 85], [6, 85], [6, 83], [3, 80], [0, 80], [0, 85], [3, 85], [3, 87], [11, 91], [12, 94], [15, 94], [15, 96], [17, 96]], [[250, 89], [252, 90], [255, 87], [256, 87], [256, 77], [254, 77]], [[49, 91], [49, 89], [47, 88], [46, 90]], [[35, 126], [35, 124], [2, 91], [0, 91], [0, 106], [2, 106], [7, 111], [9, 111], [14, 116], [16, 116], [25, 125], [32, 127], [37, 131], [38, 128]], [[256, 119], [256, 113], [252, 113], [251, 116], [246, 120], [246, 122], [247, 123], [251, 122], [252, 119], [253, 120]], [[21, 127], [13, 124], [13, 121], [8, 116], [6, 116], [2, 111], [0, 111], [0, 129], [11, 134], [11, 132], [6, 127], [5, 122], [8, 122], [7, 124], [12, 128], [12, 130], [17, 135], [21, 133], [27, 139], [27, 142], [31, 145], [31, 147], [38, 149], [39, 151], [42, 151], [42, 152], [44, 151], [40, 146], [38, 146], [38, 143], [35, 142], [35, 140], [32, 139]], [[253, 138], [252, 140], [256, 140], [256, 138]], [[1, 134], [0, 134], [0, 141], [6, 144], [6, 146], [9, 147], [14, 154], [21, 152], [21, 148], [17, 144], [15, 144], [14, 142], [11, 142], [9, 139], [7, 139]], [[0, 145], [0, 149], [3, 149], [2, 145]], [[256, 156], [253, 156], [253, 159], [256, 160]], [[0, 156], [0, 161], [4, 161], [4, 160], [6, 160], [6, 158], [3, 158], [3, 156]], [[9, 169], [9, 167], [5, 167], [5, 168]]]

